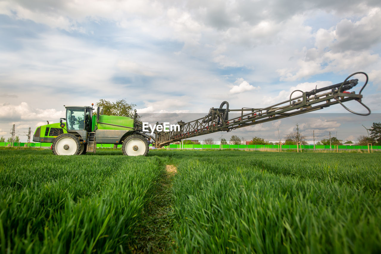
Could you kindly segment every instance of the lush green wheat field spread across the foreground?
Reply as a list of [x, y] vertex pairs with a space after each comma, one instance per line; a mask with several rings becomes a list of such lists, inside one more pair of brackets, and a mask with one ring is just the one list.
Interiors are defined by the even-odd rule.
[[381, 153], [3, 149], [0, 252], [379, 253], [380, 191]]

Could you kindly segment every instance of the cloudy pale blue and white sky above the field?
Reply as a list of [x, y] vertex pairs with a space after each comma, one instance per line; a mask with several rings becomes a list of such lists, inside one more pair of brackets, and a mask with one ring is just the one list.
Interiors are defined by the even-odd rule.
[[[261, 108], [357, 71], [370, 77], [363, 102], [380, 113], [380, 23], [376, 0], [0, 0], [0, 135], [99, 99], [125, 99], [139, 113], [207, 113], [224, 100]], [[323, 109], [303, 131], [366, 134], [352, 114], [326, 115], [345, 112]], [[284, 136], [295, 121], [262, 128]], [[345, 129], [351, 121], [357, 129]], [[245, 135], [267, 136], [256, 128]]]

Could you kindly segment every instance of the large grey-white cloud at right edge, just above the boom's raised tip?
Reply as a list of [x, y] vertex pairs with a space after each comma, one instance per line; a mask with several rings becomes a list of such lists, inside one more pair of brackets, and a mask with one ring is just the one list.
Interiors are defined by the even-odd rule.
[[282, 81], [295, 81], [326, 72], [355, 72], [379, 63], [379, 54], [370, 50], [381, 41], [381, 9], [372, 8], [359, 21], [342, 19], [335, 28], [320, 28], [315, 47], [297, 53], [293, 66], [278, 69]]

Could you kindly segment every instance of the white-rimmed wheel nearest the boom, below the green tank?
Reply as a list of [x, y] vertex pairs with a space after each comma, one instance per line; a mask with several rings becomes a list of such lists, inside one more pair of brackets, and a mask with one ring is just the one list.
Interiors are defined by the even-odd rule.
[[149, 151], [148, 142], [146, 138], [143, 137], [142, 135], [130, 135], [123, 141], [123, 145], [122, 145], [123, 155], [147, 156], [148, 151]]

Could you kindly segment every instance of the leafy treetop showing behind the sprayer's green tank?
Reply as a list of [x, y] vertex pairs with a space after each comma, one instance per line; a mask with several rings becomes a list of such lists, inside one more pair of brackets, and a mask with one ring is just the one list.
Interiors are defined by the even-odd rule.
[[[96, 103], [97, 107], [100, 107], [100, 110], [103, 110], [104, 115], [109, 116], [129, 116], [134, 118], [134, 107], [136, 104], [127, 103], [124, 99], [117, 100], [116, 102], [110, 102], [104, 99], [99, 99]], [[96, 114], [96, 112], [94, 112]], [[138, 116], [138, 119], [140, 117]]]

